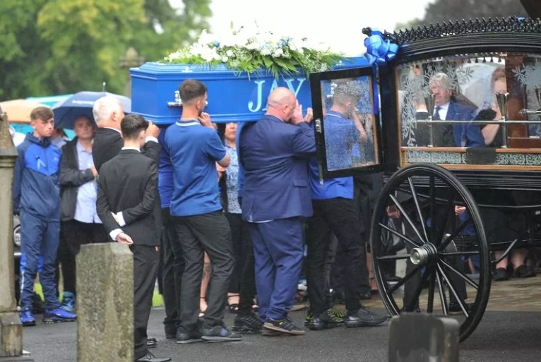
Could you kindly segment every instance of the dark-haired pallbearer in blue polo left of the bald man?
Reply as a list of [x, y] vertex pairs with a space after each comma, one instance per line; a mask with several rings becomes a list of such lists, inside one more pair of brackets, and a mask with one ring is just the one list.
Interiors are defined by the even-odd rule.
[[[177, 343], [234, 341], [241, 336], [223, 325], [227, 287], [233, 272], [231, 229], [220, 205], [218, 171], [230, 164], [218, 133], [203, 112], [206, 86], [185, 80], [179, 87], [182, 117], [167, 128], [163, 147], [172, 160], [174, 192], [171, 215], [179, 234], [186, 267], [182, 275], [181, 315]], [[203, 325], [198, 323], [203, 253], [213, 265], [208, 308]]]

